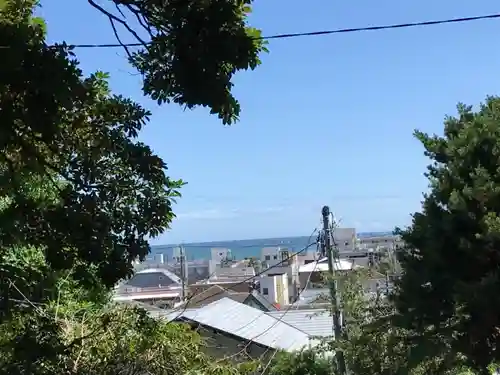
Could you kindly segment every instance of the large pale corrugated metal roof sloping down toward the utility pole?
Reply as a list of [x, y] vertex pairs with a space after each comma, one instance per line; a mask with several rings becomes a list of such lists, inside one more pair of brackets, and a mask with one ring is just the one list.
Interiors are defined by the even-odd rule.
[[[179, 315], [179, 312], [171, 313], [165, 318], [173, 320]], [[185, 311], [182, 318], [273, 349], [295, 351], [311, 345], [307, 333], [227, 297], [205, 307]]]

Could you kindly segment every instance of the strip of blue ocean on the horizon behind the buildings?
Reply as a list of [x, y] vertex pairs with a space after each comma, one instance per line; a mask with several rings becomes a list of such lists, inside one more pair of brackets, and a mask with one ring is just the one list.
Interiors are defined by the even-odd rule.
[[[365, 232], [358, 233], [359, 238], [384, 236], [390, 235], [391, 232]], [[188, 260], [208, 260], [210, 259], [210, 249], [214, 247], [221, 247], [231, 250], [234, 259], [241, 260], [250, 257], [259, 257], [260, 250], [263, 247], [286, 247], [292, 251], [302, 250], [311, 242], [316, 240], [316, 236], [310, 238], [309, 236], [298, 237], [282, 237], [282, 238], [263, 238], [255, 240], [234, 240], [234, 241], [221, 241], [221, 242], [204, 242], [204, 243], [187, 243], [182, 244], [185, 250], [186, 258]], [[151, 254], [148, 257], [152, 259], [155, 255], [163, 254], [165, 261], [169, 261], [173, 257], [174, 248], [179, 245], [155, 245], [151, 246]], [[315, 250], [311, 247], [311, 250]]]

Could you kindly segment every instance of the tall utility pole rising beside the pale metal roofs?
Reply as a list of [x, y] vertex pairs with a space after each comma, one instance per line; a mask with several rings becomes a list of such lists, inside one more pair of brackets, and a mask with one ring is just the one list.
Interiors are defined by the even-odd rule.
[[[342, 337], [342, 327], [340, 325], [340, 308], [337, 300], [337, 281], [335, 280], [335, 270], [333, 268], [334, 264], [334, 250], [332, 235], [330, 230], [330, 207], [324, 206], [321, 210], [321, 216], [323, 217], [323, 240], [322, 240], [322, 254], [326, 255], [328, 258], [328, 272], [330, 275], [330, 297], [332, 299], [332, 316], [333, 316], [333, 327], [335, 332], [335, 340], [338, 340]], [[338, 258], [338, 255], [335, 254], [335, 258]], [[337, 374], [345, 375], [346, 366], [344, 353], [342, 350], [337, 349], [335, 353], [335, 358], [337, 361]]]

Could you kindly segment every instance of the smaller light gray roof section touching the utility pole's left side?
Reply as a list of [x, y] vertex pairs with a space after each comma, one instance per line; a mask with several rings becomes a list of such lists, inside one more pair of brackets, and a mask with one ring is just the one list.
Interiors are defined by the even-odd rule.
[[310, 336], [333, 336], [333, 321], [330, 312], [326, 309], [270, 311], [267, 315], [297, 327]]

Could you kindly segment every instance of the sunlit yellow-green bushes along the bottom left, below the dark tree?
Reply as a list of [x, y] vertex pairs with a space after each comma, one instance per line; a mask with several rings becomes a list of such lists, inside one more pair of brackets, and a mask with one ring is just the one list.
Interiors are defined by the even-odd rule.
[[201, 337], [187, 325], [155, 320], [140, 308], [66, 309], [65, 302], [39, 307], [35, 316], [18, 314], [9, 326], [0, 325], [4, 373], [245, 373], [213, 363], [203, 353]]

